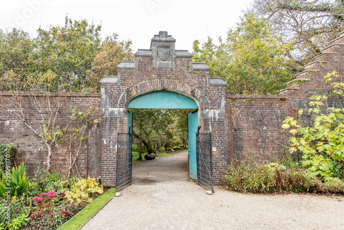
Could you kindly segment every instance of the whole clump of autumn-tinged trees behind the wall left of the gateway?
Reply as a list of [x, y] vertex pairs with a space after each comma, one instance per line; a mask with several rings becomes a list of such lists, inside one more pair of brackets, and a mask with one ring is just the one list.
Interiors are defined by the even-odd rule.
[[34, 38], [23, 30], [0, 30], [0, 76], [12, 71], [25, 84], [28, 75], [50, 71], [57, 76], [50, 91], [99, 92], [103, 76], [116, 75], [121, 60], [133, 59], [130, 40], [112, 34], [101, 41], [100, 31], [100, 25], [67, 17], [63, 26], [39, 28]]

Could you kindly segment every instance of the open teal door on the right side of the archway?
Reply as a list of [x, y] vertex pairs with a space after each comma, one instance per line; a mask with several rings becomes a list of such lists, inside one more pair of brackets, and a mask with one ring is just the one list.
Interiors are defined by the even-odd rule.
[[189, 143], [189, 175], [197, 180], [196, 133], [198, 128], [198, 112], [188, 114], [188, 143]]

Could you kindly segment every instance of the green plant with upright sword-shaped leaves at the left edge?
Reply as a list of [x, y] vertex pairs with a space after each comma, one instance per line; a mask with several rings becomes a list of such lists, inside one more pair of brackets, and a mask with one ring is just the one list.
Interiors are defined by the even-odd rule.
[[[0, 197], [8, 196], [6, 192], [10, 191], [10, 196], [21, 197], [28, 191], [30, 181], [26, 178], [25, 165], [13, 167], [12, 172], [3, 172], [0, 181]], [[7, 189], [10, 188], [10, 189]]]

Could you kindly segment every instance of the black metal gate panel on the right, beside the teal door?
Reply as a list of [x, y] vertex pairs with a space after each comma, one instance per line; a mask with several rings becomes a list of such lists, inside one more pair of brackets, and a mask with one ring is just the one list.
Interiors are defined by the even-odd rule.
[[211, 133], [196, 133], [197, 184], [214, 192]]

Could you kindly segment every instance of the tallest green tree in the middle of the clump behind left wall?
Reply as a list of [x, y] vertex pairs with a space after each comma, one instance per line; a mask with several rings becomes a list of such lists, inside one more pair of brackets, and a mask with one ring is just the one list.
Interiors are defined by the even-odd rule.
[[85, 19], [72, 21], [68, 17], [64, 26], [39, 28], [34, 39], [39, 72], [53, 71], [65, 91], [80, 92], [92, 87], [87, 71], [92, 69], [99, 50], [100, 29], [100, 25], [89, 24]]

